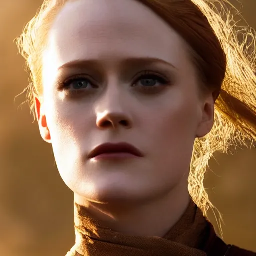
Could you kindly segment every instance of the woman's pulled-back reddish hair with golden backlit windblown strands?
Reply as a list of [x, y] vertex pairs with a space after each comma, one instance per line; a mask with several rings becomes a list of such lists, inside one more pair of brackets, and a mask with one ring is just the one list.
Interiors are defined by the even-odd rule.
[[[16, 44], [29, 72], [27, 101], [35, 117], [34, 95], [42, 93], [42, 53], [47, 35], [63, 5], [75, 0], [45, 0], [25, 26]], [[256, 140], [256, 33], [239, 26], [228, 0], [136, 0], [164, 19], [191, 49], [191, 59], [204, 88], [215, 91], [213, 128], [196, 138], [188, 177], [188, 191], [203, 214], [211, 208], [203, 185], [208, 161], [217, 151], [251, 146]], [[240, 16], [240, 15], [239, 15]], [[217, 219], [220, 234], [221, 221]]]

